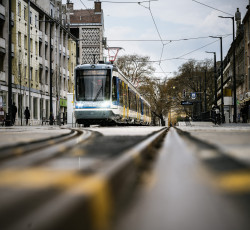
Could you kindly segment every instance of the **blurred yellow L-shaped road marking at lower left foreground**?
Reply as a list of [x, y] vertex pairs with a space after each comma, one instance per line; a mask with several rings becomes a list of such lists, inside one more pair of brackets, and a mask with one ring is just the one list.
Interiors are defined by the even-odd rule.
[[88, 196], [92, 224], [96, 230], [110, 229], [112, 203], [108, 182], [101, 176], [86, 176], [76, 171], [52, 171], [44, 168], [4, 170], [0, 187], [27, 189], [59, 188], [73, 195]]

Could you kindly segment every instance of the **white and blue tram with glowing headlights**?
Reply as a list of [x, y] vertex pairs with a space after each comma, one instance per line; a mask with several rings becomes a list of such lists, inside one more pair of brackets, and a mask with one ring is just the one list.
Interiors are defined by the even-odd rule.
[[85, 64], [75, 68], [76, 122], [91, 124], [151, 123], [149, 103], [112, 64]]

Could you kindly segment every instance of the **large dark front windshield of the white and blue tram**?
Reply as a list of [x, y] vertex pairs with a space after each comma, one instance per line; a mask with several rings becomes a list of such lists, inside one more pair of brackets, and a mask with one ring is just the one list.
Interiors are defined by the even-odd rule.
[[104, 101], [110, 99], [110, 70], [77, 70], [76, 100]]

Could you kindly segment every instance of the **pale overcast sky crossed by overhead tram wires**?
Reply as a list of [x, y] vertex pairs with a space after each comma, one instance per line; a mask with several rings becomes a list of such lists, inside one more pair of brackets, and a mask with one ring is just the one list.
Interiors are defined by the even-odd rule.
[[[239, 8], [243, 19], [246, 6], [249, 3], [248, 0], [197, 0], [202, 4], [228, 13], [225, 14], [193, 0], [151, 0], [150, 10], [148, 2], [139, 5], [138, 1], [144, 2], [147, 0], [105, 0], [102, 2], [105, 37], [108, 39], [108, 46], [124, 48], [119, 55], [139, 54], [149, 56], [152, 61], [163, 60], [161, 68], [159, 63], [154, 64], [158, 77], [164, 77], [165, 74], [168, 77], [173, 76], [173, 72], [178, 71], [178, 67], [186, 61], [173, 58], [203, 60], [213, 58], [212, 54], [207, 54], [205, 51], [215, 51], [218, 59], [220, 59], [220, 43], [216, 39], [202, 38], [189, 41], [172, 41], [170, 43], [168, 41], [162, 42], [161, 39], [177, 40], [231, 34], [223, 38], [223, 57], [225, 57], [232, 42], [232, 20], [221, 19], [218, 16], [230, 16], [228, 14], [234, 16], [236, 9]], [[66, 0], [63, 0], [63, 2], [65, 3]], [[90, 9], [94, 8], [93, 1], [71, 0], [71, 2], [74, 3], [74, 9], [86, 9], [85, 6]], [[214, 43], [207, 47], [185, 55], [212, 42]], [[163, 44], [164, 52], [162, 54]], [[162, 70], [165, 73], [162, 73]]]

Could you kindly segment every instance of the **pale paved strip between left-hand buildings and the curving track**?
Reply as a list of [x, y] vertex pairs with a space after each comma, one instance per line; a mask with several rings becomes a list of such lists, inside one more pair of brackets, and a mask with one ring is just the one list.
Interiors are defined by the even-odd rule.
[[70, 130], [62, 129], [57, 125], [0, 127], [0, 148], [16, 145], [18, 143], [29, 143], [35, 140], [55, 137], [69, 132]]

